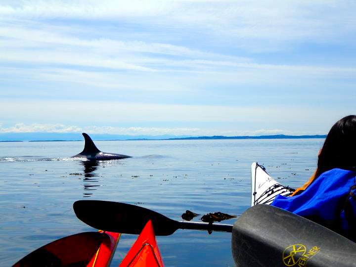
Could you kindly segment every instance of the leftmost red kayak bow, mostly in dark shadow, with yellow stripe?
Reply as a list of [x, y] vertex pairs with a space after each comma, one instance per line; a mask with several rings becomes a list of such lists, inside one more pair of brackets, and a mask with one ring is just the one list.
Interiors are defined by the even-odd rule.
[[13, 267], [108, 267], [120, 236], [104, 231], [66, 236], [31, 252]]

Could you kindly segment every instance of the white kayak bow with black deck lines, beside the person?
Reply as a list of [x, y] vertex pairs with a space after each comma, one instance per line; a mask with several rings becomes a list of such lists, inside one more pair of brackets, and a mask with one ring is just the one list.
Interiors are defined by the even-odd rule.
[[277, 195], [290, 196], [294, 189], [271, 178], [265, 167], [257, 162], [251, 165], [251, 206], [271, 204]]

